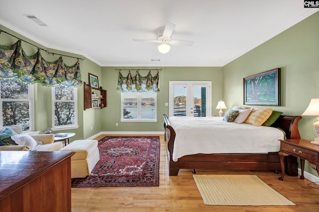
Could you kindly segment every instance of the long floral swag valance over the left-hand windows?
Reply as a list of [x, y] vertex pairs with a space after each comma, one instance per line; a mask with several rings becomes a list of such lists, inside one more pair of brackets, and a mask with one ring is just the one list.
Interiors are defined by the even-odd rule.
[[14, 77], [25, 83], [37, 82], [46, 86], [78, 86], [82, 83], [79, 60], [73, 66], [66, 66], [62, 57], [48, 62], [43, 59], [40, 49], [34, 55], [27, 56], [21, 40], [10, 46], [0, 45], [0, 78]]

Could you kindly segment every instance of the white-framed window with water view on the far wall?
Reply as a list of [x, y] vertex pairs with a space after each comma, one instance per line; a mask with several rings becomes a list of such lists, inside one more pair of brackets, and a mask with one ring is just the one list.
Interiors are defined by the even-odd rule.
[[123, 122], [156, 122], [156, 93], [121, 93]]

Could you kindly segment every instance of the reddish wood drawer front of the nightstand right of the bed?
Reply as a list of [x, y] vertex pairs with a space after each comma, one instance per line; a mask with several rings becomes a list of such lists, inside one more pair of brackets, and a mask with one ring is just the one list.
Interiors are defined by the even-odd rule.
[[292, 155], [301, 157], [301, 158], [307, 158], [307, 160], [310, 160], [312, 162], [318, 162], [318, 152], [311, 151], [305, 148], [293, 146], [287, 143], [282, 142], [282, 150], [283, 151], [288, 151]]

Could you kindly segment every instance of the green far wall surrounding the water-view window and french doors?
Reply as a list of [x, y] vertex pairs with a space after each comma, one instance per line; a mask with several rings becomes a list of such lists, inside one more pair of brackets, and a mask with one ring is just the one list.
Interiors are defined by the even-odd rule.
[[[162, 67], [160, 67], [162, 68]], [[164, 67], [160, 71], [160, 92], [157, 96], [158, 101], [158, 121], [157, 122], [122, 122], [121, 119], [121, 93], [117, 91], [119, 71], [115, 69], [131, 69], [135, 74], [137, 69], [158, 69], [158, 67], [103, 67], [102, 86], [107, 90], [108, 106], [102, 109], [102, 130], [108, 132], [164, 132], [163, 114], [168, 115], [168, 106], [164, 106], [168, 101], [168, 82], [169, 81], [212, 81], [212, 105], [217, 105], [222, 97], [222, 68], [221, 67]], [[128, 71], [121, 71], [127, 75]], [[140, 71], [141, 75], [146, 75], [149, 71]], [[156, 73], [156, 71], [151, 71]], [[212, 114], [217, 115], [218, 110], [213, 107]], [[115, 123], [119, 126], [116, 127]]]

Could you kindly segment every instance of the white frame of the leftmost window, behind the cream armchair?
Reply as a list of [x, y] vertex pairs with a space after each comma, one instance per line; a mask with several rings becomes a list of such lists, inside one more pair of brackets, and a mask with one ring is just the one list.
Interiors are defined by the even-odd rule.
[[[17, 79], [18, 80], [18, 79]], [[21, 82], [22, 83], [22, 82]], [[27, 99], [3, 99], [0, 95], [0, 111], [1, 111], [1, 118], [0, 118], [0, 126], [3, 127], [3, 117], [2, 117], [2, 102], [29, 102], [29, 122], [30, 122], [30, 129], [27, 131], [23, 131], [23, 133], [31, 133], [34, 132], [34, 85], [28, 84], [28, 98]]]

